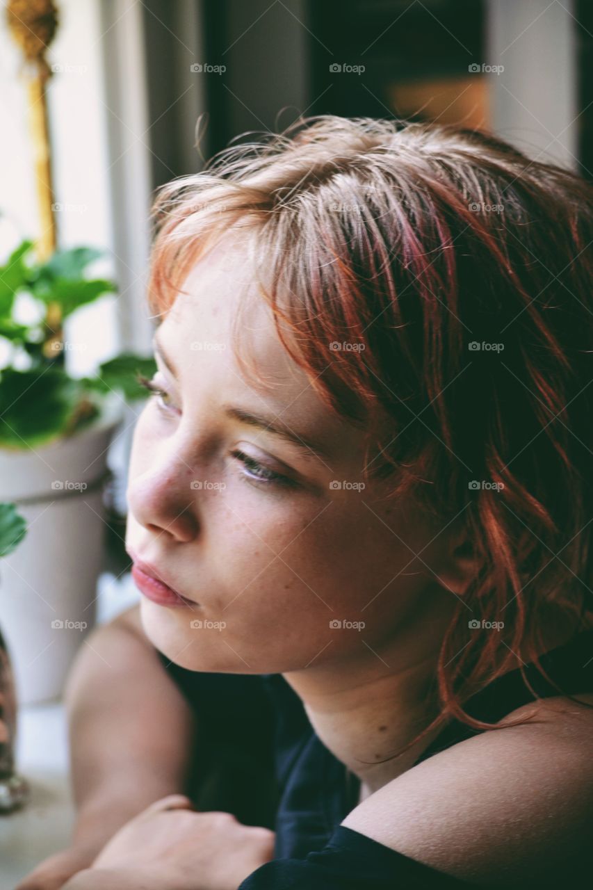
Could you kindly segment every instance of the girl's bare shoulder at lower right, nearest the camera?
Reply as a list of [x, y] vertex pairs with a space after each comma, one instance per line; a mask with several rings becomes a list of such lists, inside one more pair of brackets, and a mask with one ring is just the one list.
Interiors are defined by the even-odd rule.
[[[412, 767], [342, 824], [434, 869], [484, 886], [568, 886], [593, 865], [593, 694], [525, 705]], [[508, 720], [537, 711], [520, 726]]]

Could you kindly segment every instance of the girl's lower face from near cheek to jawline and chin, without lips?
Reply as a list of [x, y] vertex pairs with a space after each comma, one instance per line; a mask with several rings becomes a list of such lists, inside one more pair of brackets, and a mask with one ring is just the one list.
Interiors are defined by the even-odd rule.
[[[150, 642], [191, 670], [284, 673], [375, 648], [418, 604], [426, 577], [397, 578], [410, 552], [352, 510], [282, 502], [237, 483], [205, 508], [203, 608], [142, 600]], [[231, 497], [232, 496], [232, 497]], [[268, 501], [267, 503], [263, 503]], [[271, 502], [270, 502], [271, 501]], [[334, 509], [335, 508], [335, 509]], [[316, 518], [317, 517], [317, 518]], [[410, 567], [411, 568], [411, 567]], [[394, 593], [396, 595], [394, 595]], [[195, 630], [191, 619], [224, 622]], [[347, 627], [346, 627], [347, 622]]]

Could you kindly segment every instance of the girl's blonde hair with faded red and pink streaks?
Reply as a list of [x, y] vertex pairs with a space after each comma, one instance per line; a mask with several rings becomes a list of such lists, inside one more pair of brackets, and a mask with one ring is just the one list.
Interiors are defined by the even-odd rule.
[[[576, 631], [592, 611], [592, 198], [491, 135], [319, 116], [232, 145], [153, 208], [151, 310], [230, 227], [253, 231], [281, 342], [368, 431], [365, 473], [463, 524], [479, 565], [464, 602], [504, 620], [472, 634], [459, 603], [443, 639], [441, 717], [475, 729], [491, 724], [467, 697], [516, 657], [547, 676], [547, 622]], [[330, 351], [344, 340], [363, 346]]]

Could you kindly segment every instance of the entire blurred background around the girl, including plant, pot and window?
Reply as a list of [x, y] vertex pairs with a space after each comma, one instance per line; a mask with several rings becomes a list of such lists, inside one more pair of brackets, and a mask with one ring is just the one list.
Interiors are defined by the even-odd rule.
[[[138, 597], [123, 544], [126, 463], [142, 400], [121, 361], [126, 373], [150, 361], [144, 289], [154, 190], [199, 171], [231, 140], [313, 114], [485, 128], [591, 178], [591, 58], [590, 0], [3, 4], [0, 502], [10, 501], [28, 530], [0, 560], [0, 624], [13, 652], [17, 761], [29, 790], [24, 808], [0, 822], [0, 890], [65, 843], [64, 676], [93, 624]], [[21, 262], [25, 239], [37, 265]], [[15, 309], [27, 296], [45, 312], [38, 336], [23, 327], [32, 324], [27, 306]], [[15, 395], [10, 387], [26, 373], [37, 377]], [[51, 428], [51, 417], [35, 427], [46, 396], [27, 417], [20, 411], [25, 392], [42, 392], [42, 376], [77, 382], [63, 428]], [[111, 400], [109, 417], [99, 393]], [[34, 427], [29, 438], [23, 431]], [[7, 664], [0, 727], [4, 719], [4, 745], [8, 738], [14, 747]], [[2, 745], [0, 737], [0, 811], [3, 768], [8, 775], [13, 766], [5, 758], [3, 767]]]

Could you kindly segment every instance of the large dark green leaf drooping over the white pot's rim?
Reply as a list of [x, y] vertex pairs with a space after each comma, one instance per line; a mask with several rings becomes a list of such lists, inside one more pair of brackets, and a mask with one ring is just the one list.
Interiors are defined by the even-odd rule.
[[[4, 368], [0, 372], [0, 448], [36, 448], [71, 431], [84, 399], [80, 382], [62, 368]], [[85, 415], [85, 419], [92, 417]]]

